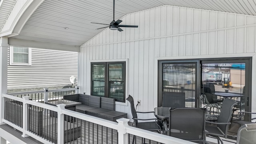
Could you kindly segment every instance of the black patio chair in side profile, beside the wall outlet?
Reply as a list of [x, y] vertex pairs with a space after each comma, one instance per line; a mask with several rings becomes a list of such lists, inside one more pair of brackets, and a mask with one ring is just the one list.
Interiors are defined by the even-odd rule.
[[[157, 118], [140, 119], [137, 116], [137, 113], [154, 113], [154, 112], [136, 112], [136, 110], [134, 108], [134, 100], [133, 100], [132, 96], [129, 95], [128, 98], [126, 98], [126, 100], [128, 100], [128, 102], [130, 102], [132, 117], [133, 117], [132, 119], [134, 120], [134, 126], [136, 128], [141, 128], [144, 130], [161, 133], [162, 122], [160, 120], [158, 120]], [[138, 120], [141, 120], [141, 121], [155, 120], [155, 121], [153, 121], [153, 122], [138, 122]], [[132, 144], [133, 143], [134, 143], [134, 136], [133, 136], [133, 140], [132, 140]]]

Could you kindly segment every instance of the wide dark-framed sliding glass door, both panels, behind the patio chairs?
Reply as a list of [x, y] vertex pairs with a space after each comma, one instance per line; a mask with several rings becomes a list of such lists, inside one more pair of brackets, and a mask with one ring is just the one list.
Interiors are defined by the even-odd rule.
[[[251, 58], [211, 58], [158, 61], [158, 106], [166, 92], [185, 93], [185, 107], [209, 107], [220, 112], [221, 99], [238, 101], [233, 116], [251, 111]], [[172, 93], [173, 94], [173, 93]], [[228, 96], [227, 96], [228, 95]], [[250, 115], [245, 120], [250, 120]]]

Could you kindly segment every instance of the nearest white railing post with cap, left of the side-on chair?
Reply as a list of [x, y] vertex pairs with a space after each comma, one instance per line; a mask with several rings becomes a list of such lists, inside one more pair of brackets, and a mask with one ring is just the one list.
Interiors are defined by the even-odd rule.
[[119, 118], [118, 122], [118, 144], [128, 144], [128, 133], [126, 133], [126, 127], [128, 126], [129, 119]]

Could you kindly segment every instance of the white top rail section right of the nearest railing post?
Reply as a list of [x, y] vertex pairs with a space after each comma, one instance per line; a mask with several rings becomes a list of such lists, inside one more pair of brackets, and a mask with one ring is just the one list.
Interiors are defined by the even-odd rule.
[[172, 144], [195, 144], [194, 142], [182, 140], [179, 138], [174, 138], [172, 136], [167, 136], [164, 134], [158, 134], [156, 132], [150, 132], [148, 130], [143, 130], [143, 129], [135, 128], [132, 126], [127, 126], [126, 132], [129, 134], [133, 134], [136, 136], [140, 136], [142, 138], [154, 140], [156, 142], [160, 142], [160, 143], [164, 143], [164, 144], [170, 144], [170, 143], [172, 143]]

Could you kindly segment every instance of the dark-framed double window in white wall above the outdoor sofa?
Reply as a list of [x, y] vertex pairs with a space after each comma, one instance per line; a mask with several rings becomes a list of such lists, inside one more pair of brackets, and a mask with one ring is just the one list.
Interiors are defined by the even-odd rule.
[[125, 101], [125, 62], [92, 63], [93, 96], [115, 98]]

